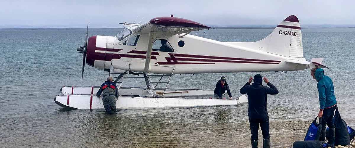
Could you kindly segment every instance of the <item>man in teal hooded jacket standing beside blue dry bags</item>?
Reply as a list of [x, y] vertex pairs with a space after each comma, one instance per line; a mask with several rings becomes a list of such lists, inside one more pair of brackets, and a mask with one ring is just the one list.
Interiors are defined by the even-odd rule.
[[322, 132], [320, 141], [326, 138], [326, 125], [329, 127], [328, 144], [334, 146], [335, 128], [333, 122], [334, 111], [337, 108], [337, 99], [334, 94], [333, 81], [330, 77], [324, 75], [322, 68], [315, 68], [311, 70], [311, 76], [318, 81], [318, 96], [319, 96], [319, 113], [318, 117], [322, 117]]

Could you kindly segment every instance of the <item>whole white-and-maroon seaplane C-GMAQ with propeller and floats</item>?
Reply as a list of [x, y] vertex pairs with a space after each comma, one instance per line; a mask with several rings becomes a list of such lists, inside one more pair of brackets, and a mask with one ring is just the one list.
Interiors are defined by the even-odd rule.
[[[85, 63], [108, 71], [119, 88], [116, 108], [158, 108], [186, 106], [238, 105], [248, 102], [245, 95], [236, 99], [201, 99], [213, 90], [168, 88], [176, 74], [295, 71], [306, 68], [328, 68], [322, 58], [303, 58], [302, 33], [299, 20], [291, 15], [273, 32], [257, 42], [219, 42], [189, 34], [214, 29], [201, 23], [178, 18], [156, 17], [143, 24], [121, 23], [125, 28], [116, 36], [95, 35], [77, 50]], [[220, 53], [225, 53], [220, 55]], [[115, 77], [116, 75], [116, 77]], [[162, 81], [168, 77], [168, 81]], [[126, 78], [143, 78], [144, 88], [121, 87]], [[153, 81], [154, 78], [159, 80]], [[158, 88], [158, 84], [165, 87]], [[104, 109], [99, 86], [70, 86], [60, 89], [56, 104], [72, 109]], [[185, 96], [185, 97], [182, 97]], [[186, 97], [187, 96], [187, 97]], [[192, 98], [191, 98], [192, 97]]]

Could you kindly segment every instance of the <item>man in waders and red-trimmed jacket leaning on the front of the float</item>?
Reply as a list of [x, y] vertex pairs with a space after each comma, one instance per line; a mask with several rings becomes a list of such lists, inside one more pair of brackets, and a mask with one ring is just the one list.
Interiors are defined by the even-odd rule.
[[101, 84], [99, 91], [96, 96], [99, 98], [102, 93], [102, 103], [107, 113], [112, 114], [116, 111], [116, 99], [119, 97], [118, 88], [114, 82], [112, 82], [112, 77], [107, 77], [107, 81]]

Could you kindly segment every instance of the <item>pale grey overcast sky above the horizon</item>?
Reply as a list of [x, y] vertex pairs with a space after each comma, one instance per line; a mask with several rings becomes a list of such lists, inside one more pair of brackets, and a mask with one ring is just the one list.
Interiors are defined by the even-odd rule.
[[355, 27], [354, 0], [0, 0], [0, 28], [122, 28], [154, 17], [210, 27], [275, 27], [296, 15], [301, 27]]

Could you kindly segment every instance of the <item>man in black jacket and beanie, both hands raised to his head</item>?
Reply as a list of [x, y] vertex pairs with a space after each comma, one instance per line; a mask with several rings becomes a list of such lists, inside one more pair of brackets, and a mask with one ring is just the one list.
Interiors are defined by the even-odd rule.
[[[254, 83], [250, 85], [252, 80], [254, 80]], [[269, 87], [261, 84], [263, 80]], [[248, 95], [248, 116], [252, 148], [258, 147], [259, 125], [264, 138], [263, 148], [270, 148], [269, 115], [266, 109], [267, 94], [278, 94], [279, 91], [266, 77], [262, 78], [260, 74], [256, 74], [254, 78], [249, 78], [249, 81], [240, 89], [240, 93]]]

